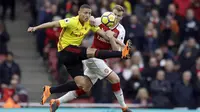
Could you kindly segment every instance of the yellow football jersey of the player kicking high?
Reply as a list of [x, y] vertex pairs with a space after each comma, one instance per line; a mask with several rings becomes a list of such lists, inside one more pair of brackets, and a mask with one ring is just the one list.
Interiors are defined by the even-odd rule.
[[91, 26], [89, 21], [82, 25], [79, 16], [60, 20], [59, 23], [63, 29], [57, 44], [58, 51], [63, 50], [68, 45], [80, 46], [83, 38], [90, 30], [96, 32], [100, 29], [97, 26]]

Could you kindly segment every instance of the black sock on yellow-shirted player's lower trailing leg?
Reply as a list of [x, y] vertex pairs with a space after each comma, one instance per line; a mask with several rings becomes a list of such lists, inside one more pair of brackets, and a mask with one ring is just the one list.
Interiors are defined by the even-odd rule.
[[75, 81], [68, 81], [65, 84], [51, 87], [50, 92], [53, 93], [62, 93], [62, 92], [69, 92], [72, 90], [78, 89], [78, 86], [76, 85]]

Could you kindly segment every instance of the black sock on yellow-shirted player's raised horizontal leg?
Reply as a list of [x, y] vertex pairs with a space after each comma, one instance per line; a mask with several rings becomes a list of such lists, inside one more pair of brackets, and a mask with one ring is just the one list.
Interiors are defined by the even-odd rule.
[[96, 50], [95, 57], [99, 59], [107, 59], [107, 58], [121, 58], [121, 51], [111, 51], [111, 50]]

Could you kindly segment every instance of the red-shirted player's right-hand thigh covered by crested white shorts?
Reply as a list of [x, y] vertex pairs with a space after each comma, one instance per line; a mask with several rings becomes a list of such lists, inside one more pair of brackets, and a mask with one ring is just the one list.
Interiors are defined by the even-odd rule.
[[94, 73], [100, 80], [107, 77], [112, 70], [105, 63], [104, 60], [97, 58], [87, 59], [86, 66]]

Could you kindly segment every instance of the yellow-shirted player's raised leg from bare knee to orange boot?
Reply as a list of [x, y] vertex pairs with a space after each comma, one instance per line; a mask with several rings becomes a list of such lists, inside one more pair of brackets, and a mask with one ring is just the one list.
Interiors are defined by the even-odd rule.
[[126, 46], [122, 51], [112, 51], [112, 50], [97, 50], [95, 48], [87, 49], [87, 57], [88, 58], [99, 58], [99, 59], [107, 59], [107, 58], [128, 58], [130, 54], [131, 41], [128, 40]]

